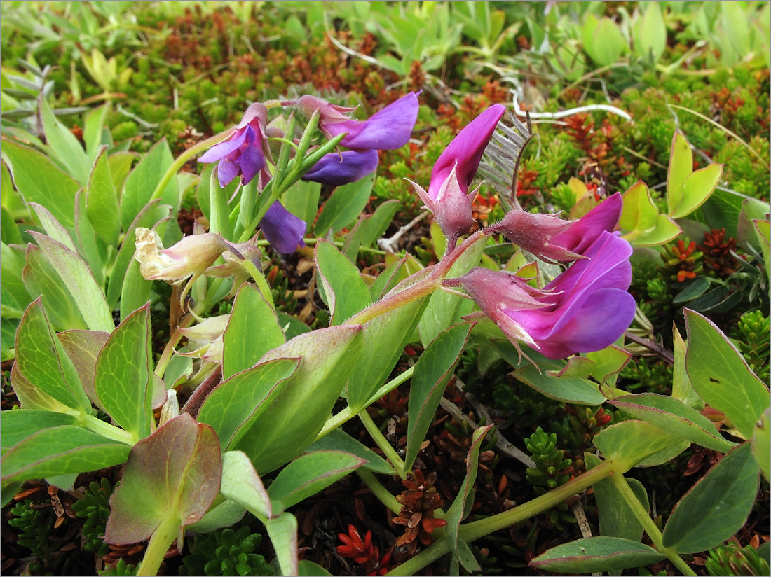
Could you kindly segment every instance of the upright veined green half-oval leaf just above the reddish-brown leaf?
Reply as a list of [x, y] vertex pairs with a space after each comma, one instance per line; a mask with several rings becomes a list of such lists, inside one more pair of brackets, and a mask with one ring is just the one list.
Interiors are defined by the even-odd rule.
[[134, 311], [109, 335], [96, 357], [94, 392], [104, 411], [136, 440], [153, 423], [150, 304]]

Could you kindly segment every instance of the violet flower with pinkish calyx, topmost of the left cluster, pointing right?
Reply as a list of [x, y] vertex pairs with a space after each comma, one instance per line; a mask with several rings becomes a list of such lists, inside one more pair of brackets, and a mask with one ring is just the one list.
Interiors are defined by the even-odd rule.
[[306, 116], [311, 116], [315, 109], [318, 109], [318, 127], [327, 138], [348, 133], [340, 145], [363, 152], [395, 150], [408, 143], [412, 128], [418, 119], [419, 103], [416, 92], [410, 92], [366, 120], [349, 119], [344, 112], [351, 109], [333, 106], [315, 96], [301, 97], [298, 107]]

